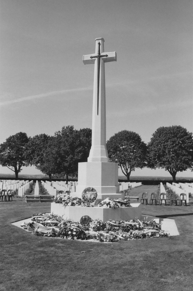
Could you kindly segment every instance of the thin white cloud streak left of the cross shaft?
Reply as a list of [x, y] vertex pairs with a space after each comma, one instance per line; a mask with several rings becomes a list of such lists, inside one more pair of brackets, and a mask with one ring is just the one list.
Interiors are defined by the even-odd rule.
[[42, 93], [42, 94], [38, 94], [38, 95], [30, 95], [30, 96], [26, 96], [26, 97], [21, 97], [21, 98], [13, 99], [13, 100], [6, 100], [3, 102], [0, 102], [0, 106], [24, 102], [24, 101], [30, 101], [30, 100], [34, 100], [34, 99], [40, 99], [40, 98], [49, 97], [49, 96], [53, 96], [53, 95], [61, 95], [61, 94], [65, 94], [65, 93], [90, 91], [90, 90], [93, 90], [93, 87], [65, 89], [65, 90], [61, 90], [61, 91], [52, 91], [52, 92]]

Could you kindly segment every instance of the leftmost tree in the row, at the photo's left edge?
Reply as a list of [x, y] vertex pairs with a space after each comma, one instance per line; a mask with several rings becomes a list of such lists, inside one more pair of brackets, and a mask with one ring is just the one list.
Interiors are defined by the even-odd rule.
[[26, 166], [24, 158], [24, 148], [29, 139], [25, 132], [18, 132], [9, 136], [4, 143], [0, 145], [0, 164], [15, 172], [15, 178], [18, 179], [18, 173], [22, 171], [22, 166]]

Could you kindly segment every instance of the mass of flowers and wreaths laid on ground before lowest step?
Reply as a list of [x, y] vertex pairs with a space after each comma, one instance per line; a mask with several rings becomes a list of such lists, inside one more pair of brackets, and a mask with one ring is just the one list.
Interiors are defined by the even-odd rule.
[[[88, 219], [89, 218], [89, 219]], [[32, 216], [32, 222], [22, 226], [37, 236], [59, 237], [63, 239], [95, 239], [100, 242], [116, 242], [152, 237], [168, 237], [155, 221], [109, 219], [105, 223], [87, 217], [87, 224], [63, 220], [62, 217], [50, 213], [38, 213]]]

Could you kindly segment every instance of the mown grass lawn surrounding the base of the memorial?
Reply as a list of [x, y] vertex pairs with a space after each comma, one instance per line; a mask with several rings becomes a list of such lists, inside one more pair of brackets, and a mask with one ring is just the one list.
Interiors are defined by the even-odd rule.
[[114, 243], [37, 237], [11, 225], [38, 212], [50, 203], [0, 202], [0, 290], [193, 290], [193, 205], [142, 206], [175, 219], [179, 236]]

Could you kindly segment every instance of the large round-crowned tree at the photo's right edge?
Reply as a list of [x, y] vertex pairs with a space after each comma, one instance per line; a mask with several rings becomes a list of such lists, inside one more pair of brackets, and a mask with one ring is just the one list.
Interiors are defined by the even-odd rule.
[[150, 163], [164, 168], [176, 182], [176, 173], [193, 166], [192, 133], [180, 125], [159, 127], [148, 143]]

